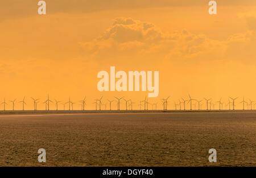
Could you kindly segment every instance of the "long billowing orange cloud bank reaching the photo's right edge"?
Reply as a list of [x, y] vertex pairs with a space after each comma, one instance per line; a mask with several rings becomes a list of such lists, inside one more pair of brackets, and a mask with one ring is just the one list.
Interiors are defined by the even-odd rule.
[[[202, 63], [209, 60], [241, 60], [255, 58], [251, 45], [253, 32], [233, 34], [226, 40], [214, 40], [204, 34], [187, 30], [162, 32], [152, 23], [131, 18], [116, 18], [110, 28], [98, 38], [81, 43], [89, 60], [102, 64], [158, 62]], [[152, 64], [152, 63], [151, 63]]]

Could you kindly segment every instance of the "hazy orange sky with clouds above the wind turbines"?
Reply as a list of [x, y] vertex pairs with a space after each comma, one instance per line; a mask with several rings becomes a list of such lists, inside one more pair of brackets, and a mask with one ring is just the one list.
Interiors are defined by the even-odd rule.
[[32, 109], [35, 97], [44, 109], [49, 93], [61, 101], [86, 96], [94, 109], [102, 95], [104, 102], [124, 96], [137, 109], [148, 92], [97, 90], [97, 73], [110, 66], [159, 71], [159, 97], [149, 100], [171, 96], [168, 109], [188, 93], [214, 102], [222, 97], [226, 103], [228, 96], [256, 101], [256, 1], [217, 1], [217, 15], [208, 14], [205, 0], [46, 1], [46, 15], [37, 14], [37, 2], [1, 2], [1, 102], [26, 96]]

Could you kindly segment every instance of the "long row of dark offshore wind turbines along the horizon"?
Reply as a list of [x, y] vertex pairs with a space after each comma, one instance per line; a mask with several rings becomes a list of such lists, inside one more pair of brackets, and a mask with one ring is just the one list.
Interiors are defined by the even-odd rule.
[[[131, 99], [125, 99], [125, 97], [98, 97], [94, 102], [86, 100], [84, 97], [82, 100], [73, 101], [71, 97], [68, 100], [56, 100], [52, 97], [53, 102], [50, 100], [49, 94], [43, 101], [40, 98], [34, 99], [33, 97], [23, 97], [21, 101], [9, 100], [6, 102], [6, 98], [0, 102], [0, 113], [152, 113], [152, 112], [237, 112], [237, 111], [254, 111], [255, 101], [251, 101], [249, 98], [242, 101], [238, 98], [226, 97], [226, 101], [220, 97], [219, 100], [213, 100], [212, 98], [192, 98], [190, 94], [188, 97], [181, 97], [177, 101], [172, 101], [170, 96], [166, 98], [155, 99], [144, 97], [143, 100], [134, 101]], [[185, 98], [185, 99], [184, 99]], [[231, 100], [231, 101], [230, 101]], [[238, 100], [238, 101], [237, 101]], [[237, 102], [236, 102], [237, 101]], [[28, 107], [27, 103], [30, 102], [33, 107]], [[95, 105], [95, 109], [87, 109], [89, 104]], [[116, 102], [116, 105], [113, 105]], [[204, 102], [204, 103], [203, 103]], [[138, 105], [135, 105], [138, 104]], [[245, 107], [246, 104], [246, 107]], [[16, 109], [16, 107], [19, 109]], [[63, 105], [60, 107], [59, 105]], [[215, 107], [217, 105], [218, 107]], [[223, 107], [225, 106], [225, 108]], [[38, 109], [39, 106], [41, 109]], [[65, 107], [67, 106], [67, 107]], [[104, 106], [104, 107], [102, 107]], [[136, 107], [137, 106], [137, 107]], [[75, 107], [75, 109], [74, 109]]]

